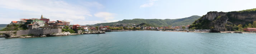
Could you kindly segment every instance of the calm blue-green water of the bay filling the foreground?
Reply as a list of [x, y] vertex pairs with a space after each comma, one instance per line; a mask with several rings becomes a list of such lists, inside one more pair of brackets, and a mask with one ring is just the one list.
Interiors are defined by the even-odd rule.
[[255, 54], [256, 34], [162, 31], [0, 38], [0, 54]]

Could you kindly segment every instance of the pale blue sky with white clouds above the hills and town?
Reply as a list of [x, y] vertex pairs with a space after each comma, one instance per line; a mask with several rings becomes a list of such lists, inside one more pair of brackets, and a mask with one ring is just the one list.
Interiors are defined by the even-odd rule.
[[20, 18], [49, 18], [71, 25], [93, 25], [124, 19], [176, 19], [209, 11], [256, 8], [256, 0], [0, 0], [0, 24]]

